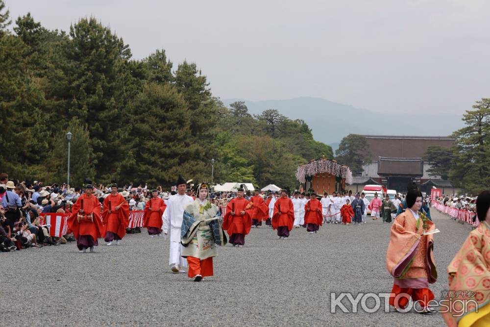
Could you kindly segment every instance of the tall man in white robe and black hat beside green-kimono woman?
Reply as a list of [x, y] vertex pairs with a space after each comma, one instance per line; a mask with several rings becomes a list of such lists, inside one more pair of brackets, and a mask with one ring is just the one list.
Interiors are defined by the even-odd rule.
[[187, 260], [181, 257], [182, 244], [180, 244], [180, 227], [184, 218], [184, 207], [194, 202], [194, 199], [185, 194], [187, 183], [184, 177], [179, 176], [177, 181], [177, 194], [165, 201], [167, 208], [163, 213], [163, 232], [170, 232], [169, 265], [174, 273], [185, 273], [182, 268], [187, 267]]

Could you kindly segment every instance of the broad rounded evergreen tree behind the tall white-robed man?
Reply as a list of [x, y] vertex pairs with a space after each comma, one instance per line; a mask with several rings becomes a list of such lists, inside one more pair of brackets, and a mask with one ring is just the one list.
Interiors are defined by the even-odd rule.
[[[149, 83], [130, 104], [134, 161], [124, 167], [123, 179], [171, 186], [179, 174], [196, 173], [190, 160], [199, 151], [189, 139], [186, 102], [171, 84]], [[191, 178], [191, 177], [189, 177]], [[129, 181], [127, 180], [127, 181]]]

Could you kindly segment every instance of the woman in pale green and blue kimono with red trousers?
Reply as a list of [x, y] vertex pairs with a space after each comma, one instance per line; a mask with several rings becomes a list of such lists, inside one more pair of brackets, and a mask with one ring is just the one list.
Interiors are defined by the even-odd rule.
[[226, 245], [218, 207], [209, 201], [208, 186], [197, 185], [197, 198], [184, 207], [181, 240], [182, 256], [189, 264], [188, 276], [194, 281], [213, 276], [213, 257], [218, 254], [216, 245]]

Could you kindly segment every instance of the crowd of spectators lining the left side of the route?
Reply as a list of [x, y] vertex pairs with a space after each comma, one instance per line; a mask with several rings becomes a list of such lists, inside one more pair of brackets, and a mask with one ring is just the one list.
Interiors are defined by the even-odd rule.
[[[163, 200], [175, 194], [174, 191], [164, 191], [161, 186], [156, 190]], [[128, 201], [130, 210], [144, 210], [152, 189], [148, 185], [127, 184], [122, 185], [118, 191]], [[50, 236], [50, 226], [43, 225], [40, 214], [71, 213], [73, 203], [82, 192], [81, 187], [71, 187], [65, 183], [45, 185], [42, 181], [19, 181], [9, 178], [6, 173], [0, 174], [0, 251], [58, 246], [75, 241], [73, 234]], [[102, 184], [94, 189], [94, 195], [101, 205], [109, 194], [110, 189]], [[195, 196], [192, 189], [188, 189], [187, 194]], [[221, 209], [235, 196], [236, 192], [211, 193], [211, 201]], [[245, 197], [250, 199], [250, 193], [247, 192]], [[128, 232], [141, 232], [141, 229], [128, 228]]]

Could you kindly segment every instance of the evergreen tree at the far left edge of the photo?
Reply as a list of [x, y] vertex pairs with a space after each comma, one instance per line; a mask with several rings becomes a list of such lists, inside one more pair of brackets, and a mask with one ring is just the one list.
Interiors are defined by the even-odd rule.
[[30, 73], [28, 54], [20, 38], [0, 34], [0, 162], [19, 179], [39, 172], [48, 154], [43, 93]]

